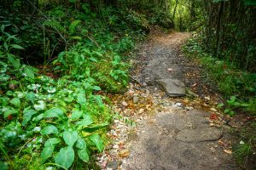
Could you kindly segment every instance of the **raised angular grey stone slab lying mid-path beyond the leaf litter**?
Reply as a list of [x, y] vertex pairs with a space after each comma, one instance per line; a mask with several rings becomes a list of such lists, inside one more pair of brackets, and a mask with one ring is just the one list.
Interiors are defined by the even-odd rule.
[[177, 79], [160, 79], [155, 81], [170, 97], [179, 97], [186, 94], [185, 85]]

